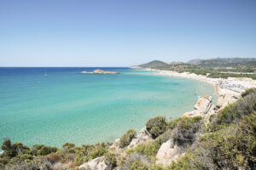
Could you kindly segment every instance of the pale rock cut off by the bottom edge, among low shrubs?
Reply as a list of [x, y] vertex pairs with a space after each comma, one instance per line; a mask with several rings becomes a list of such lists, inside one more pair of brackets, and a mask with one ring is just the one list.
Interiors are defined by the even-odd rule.
[[108, 169], [109, 168], [104, 161], [104, 156], [97, 157], [79, 166], [79, 170], [108, 170]]

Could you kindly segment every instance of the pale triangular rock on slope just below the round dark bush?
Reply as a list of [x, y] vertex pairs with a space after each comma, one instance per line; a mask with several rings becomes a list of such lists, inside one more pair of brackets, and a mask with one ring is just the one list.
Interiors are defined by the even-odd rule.
[[128, 145], [128, 149], [135, 148], [138, 144], [147, 144], [152, 140], [153, 139], [150, 137], [147, 128], [144, 127], [139, 133], [137, 133], [136, 138], [131, 140], [131, 143]]

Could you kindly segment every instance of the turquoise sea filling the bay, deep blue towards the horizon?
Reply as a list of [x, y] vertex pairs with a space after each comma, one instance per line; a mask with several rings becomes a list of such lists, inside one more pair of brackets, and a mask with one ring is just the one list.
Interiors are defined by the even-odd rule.
[[95, 69], [0, 68], [0, 142], [113, 142], [128, 129], [142, 129], [150, 117], [182, 116], [198, 96], [214, 93], [204, 82], [130, 68], [102, 68], [119, 75], [80, 74]]

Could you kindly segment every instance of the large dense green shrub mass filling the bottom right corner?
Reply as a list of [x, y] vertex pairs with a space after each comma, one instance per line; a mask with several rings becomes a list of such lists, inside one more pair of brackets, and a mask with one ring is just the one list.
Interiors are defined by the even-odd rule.
[[256, 115], [202, 136], [170, 169], [255, 169]]

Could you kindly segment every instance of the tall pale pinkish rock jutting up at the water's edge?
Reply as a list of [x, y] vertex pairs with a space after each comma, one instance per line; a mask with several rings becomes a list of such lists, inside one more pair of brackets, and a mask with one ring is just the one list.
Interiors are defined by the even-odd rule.
[[[183, 116], [205, 116], [212, 108], [212, 96], [204, 96], [198, 99], [194, 106], [194, 111], [188, 111]], [[213, 108], [212, 108], [213, 109]]]

